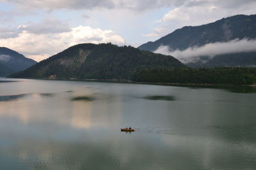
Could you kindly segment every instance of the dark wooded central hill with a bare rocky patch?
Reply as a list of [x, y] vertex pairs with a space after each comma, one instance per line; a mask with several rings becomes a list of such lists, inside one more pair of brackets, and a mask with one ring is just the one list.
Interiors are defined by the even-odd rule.
[[147, 68], [186, 67], [170, 55], [131, 46], [79, 44], [71, 46], [28, 69], [15, 78], [129, 79], [134, 71]]

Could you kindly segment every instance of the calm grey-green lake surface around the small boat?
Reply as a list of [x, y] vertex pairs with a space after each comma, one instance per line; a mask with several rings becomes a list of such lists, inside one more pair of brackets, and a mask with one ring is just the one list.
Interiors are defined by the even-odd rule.
[[250, 90], [0, 81], [0, 169], [256, 169]]

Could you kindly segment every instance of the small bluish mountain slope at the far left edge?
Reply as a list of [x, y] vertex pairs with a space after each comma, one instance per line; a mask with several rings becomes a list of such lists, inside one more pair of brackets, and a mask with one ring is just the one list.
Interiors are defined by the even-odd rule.
[[11, 73], [24, 70], [33, 64], [36, 64], [35, 60], [28, 59], [9, 48], [0, 47], [0, 76], [8, 76]]

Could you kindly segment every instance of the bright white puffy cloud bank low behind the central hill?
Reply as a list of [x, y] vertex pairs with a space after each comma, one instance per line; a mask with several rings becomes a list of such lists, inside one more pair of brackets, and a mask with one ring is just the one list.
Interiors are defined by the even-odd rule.
[[94, 29], [83, 25], [72, 28], [70, 32], [33, 34], [33, 32], [24, 30], [15, 38], [0, 38], [0, 46], [6, 46], [37, 61], [78, 43], [108, 42], [117, 45], [125, 44], [125, 40], [114, 31]]

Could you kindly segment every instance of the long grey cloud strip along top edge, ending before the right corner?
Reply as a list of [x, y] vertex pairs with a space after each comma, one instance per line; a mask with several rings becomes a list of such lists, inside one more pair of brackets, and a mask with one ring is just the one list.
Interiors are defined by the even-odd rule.
[[47, 10], [92, 10], [93, 8], [106, 9], [128, 9], [128, 10], [149, 10], [154, 8], [180, 6], [188, 0], [41, 0], [41, 1], [22, 1], [8, 0], [10, 3], [17, 4], [20, 8], [33, 10], [35, 8]]

